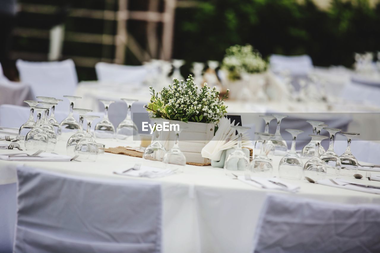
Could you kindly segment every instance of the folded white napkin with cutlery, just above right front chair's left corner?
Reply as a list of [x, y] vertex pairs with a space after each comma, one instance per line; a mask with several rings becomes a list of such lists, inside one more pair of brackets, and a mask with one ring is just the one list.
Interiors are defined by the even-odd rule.
[[[284, 182], [283, 180], [280, 180], [277, 177], [273, 177], [273, 178], [251, 177], [251, 179], [253, 180], [252, 181], [252, 180], [245, 180], [244, 176], [239, 176], [237, 177], [237, 179], [239, 179], [240, 181], [244, 183], [252, 185], [254, 187], [263, 188], [263, 189], [290, 191], [293, 193], [298, 192], [300, 189], [298, 185], [293, 185], [291, 183]], [[281, 183], [282, 185], [275, 184], [270, 181]], [[286, 185], [286, 187], [284, 187], [283, 185]]]

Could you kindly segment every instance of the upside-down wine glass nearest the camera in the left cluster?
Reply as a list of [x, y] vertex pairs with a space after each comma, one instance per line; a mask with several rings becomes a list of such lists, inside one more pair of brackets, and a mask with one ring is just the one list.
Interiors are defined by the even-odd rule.
[[78, 155], [77, 160], [79, 161], [96, 161], [99, 153], [99, 148], [96, 141], [93, 139], [90, 130], [92, 121], [100, 117], [85, 115], [84, 118], [87, 120], [87, 132], [86, 135], [75, 145], [74, 152], [75, 155]]

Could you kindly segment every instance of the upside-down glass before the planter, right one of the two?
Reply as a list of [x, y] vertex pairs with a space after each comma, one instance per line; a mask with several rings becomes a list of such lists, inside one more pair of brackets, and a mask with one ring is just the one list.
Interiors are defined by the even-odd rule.
[[162, 159], [163, 163], [165, 163], [165, 168], [179, 173], [184, 172], [186, 165], [186, 157], [179, 149], [179, 134], [182, 130], [187, 128], [187, 126], [180, 126], [178, 130], [174, 128], [174, 133], [176, 134], [174, 145], [168, 152], [166, 152]]

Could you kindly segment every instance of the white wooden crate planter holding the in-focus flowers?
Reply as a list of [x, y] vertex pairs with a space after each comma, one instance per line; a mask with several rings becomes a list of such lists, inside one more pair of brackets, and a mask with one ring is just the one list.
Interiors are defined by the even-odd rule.
[[[170, 124], [179, 124], [187, 126], [187, 129], [182, 130], [179, 136], [179, 147], [186, 157], [186, 161], [190, 163], [210, 163], [207, 158], [203, 158], [201, 150], [204, 145], [211, 141], [214, 137], [215, 125], [211, 123], [198, 123], [198, 122], [180, 122], [177, 120], [168, 120]], [[153, 140], [155, 134], [153, 134]], [[160, 131], [158, 137], [161, 144], [164, 145], [166, 150], [171, 149], [174, 145], [175, 132], [174, 131]], [[170, 141], [168, 141], [170, 140]]]

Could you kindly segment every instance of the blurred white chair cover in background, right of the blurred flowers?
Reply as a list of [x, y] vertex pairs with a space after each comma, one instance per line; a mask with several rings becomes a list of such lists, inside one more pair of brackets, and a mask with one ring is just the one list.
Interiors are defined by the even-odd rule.
[[307, 75], [313, 69], [313, 62], [309, 55], [285, 56], [273, 54], [269, 58], [271, 70], [279, 74], [289, 71], [292, 76]]

